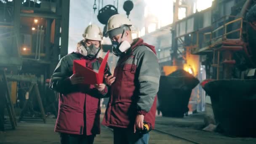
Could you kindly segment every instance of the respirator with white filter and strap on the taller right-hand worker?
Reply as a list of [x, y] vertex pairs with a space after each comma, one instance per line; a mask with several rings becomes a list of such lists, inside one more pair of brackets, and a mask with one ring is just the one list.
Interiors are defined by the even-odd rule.
[[131, 44], [127, 40], [122, 41], [124, 33], [125, 33], [125, 28], [123, 29], [123, 33], [122, 33], [122, 36], [121, 36], [121, 39], [119, 40], [119, 42], [112, 41], [112, 45], [113, 45], [112, 52], [116, 56], [121, 56], [121, 54], [123, 52], [125, 52], [126, 50], [128, 50], [131, 47]]

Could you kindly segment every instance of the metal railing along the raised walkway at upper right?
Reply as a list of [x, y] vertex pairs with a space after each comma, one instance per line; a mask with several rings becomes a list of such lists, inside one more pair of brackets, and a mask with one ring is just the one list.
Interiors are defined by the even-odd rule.
[[[223, 16], [214, 21], [210, 27], [204, 27], [194, 32], [180, 35], [176, 37], [176, 40], [178, 42], [178, 46], [182, 45], [182, 47], [190, 47], [194, 52], [201, 48], [213, 48], [218, 44], [218, 42], [222, 42], [222, 40], [241, 40], [243, 22], [242, 17]], [[184, 39], [182, 39], [183, 37]]]

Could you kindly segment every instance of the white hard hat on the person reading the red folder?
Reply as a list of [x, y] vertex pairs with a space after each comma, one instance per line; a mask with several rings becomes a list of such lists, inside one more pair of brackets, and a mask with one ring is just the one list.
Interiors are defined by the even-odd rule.
[[83, 32], [83, 37], [87, 40], [101, 41], [103, 39], [101, 29], [96, 24], [91, 24], [86, 27], [85, 31]]

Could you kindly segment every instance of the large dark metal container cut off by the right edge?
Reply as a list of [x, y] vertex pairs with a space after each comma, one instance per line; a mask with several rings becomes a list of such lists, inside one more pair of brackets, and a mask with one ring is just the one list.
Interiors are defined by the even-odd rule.
[[214, 80], [203, 88], [224, 134], [256, 137], [256, 80]]

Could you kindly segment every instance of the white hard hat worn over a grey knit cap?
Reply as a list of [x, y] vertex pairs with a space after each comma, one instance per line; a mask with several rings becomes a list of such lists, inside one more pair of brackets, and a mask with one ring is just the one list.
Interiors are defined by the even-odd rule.
[[114, 16], [111, 16], [107, 22], [107, 32], [111, 31], [112, 29], [120, 28], [123, 25], [128, 27], [132, 26], [131, 21], [125, 15], [115, 14]]

